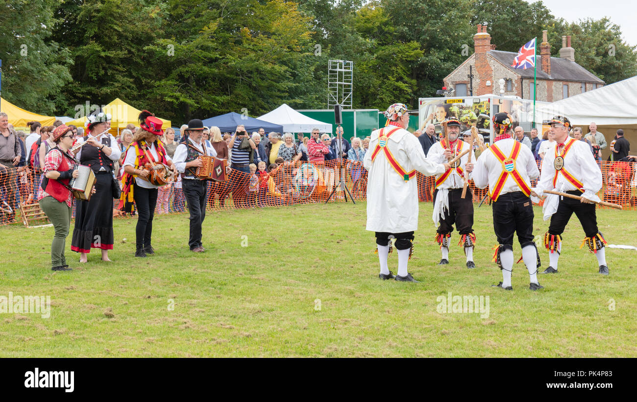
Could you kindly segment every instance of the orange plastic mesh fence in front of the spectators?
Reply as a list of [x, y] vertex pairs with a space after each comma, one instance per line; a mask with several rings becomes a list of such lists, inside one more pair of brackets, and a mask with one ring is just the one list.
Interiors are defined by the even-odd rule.
[[[637, 163], [598, 163], [603, 177], [599, 198], [620, 204], [624, 209], [637, 210]], [[41, 177], [41, 171], [31, 167], [0, 168], [0, 225], [21, 221], [19, 205], [36, 202]], [[418, 173], [416, 180], [419, 200], [431, 202], [436, 188], [434, 177]], [[349, 194], [343, 191], [341, 181], [354, 200], [366, 199], [367, 170], [361, 162], [285, 162], [270, 172], [257, 170], [257, 174], [231, 170], [227, 181], [208, 182], [208, 209], [278, 207], [326, 202], [328, 198], [330, 202], [342, 202], [346, 195], [349, 198]], [[532, 184], [534, 186], [536, 181]], [[475, 188], [473, 181], [469, 182], [468, 188], [473, 202], [490, 201], [487, 189]], [[131, 217], [136, 214], [134, 205], [125, 213], [117, 211], [117, 206], [116, 201], [113, 203], [115, 216]], [[155, 213], [187, 211], [181, 179], [159, 188]]]

